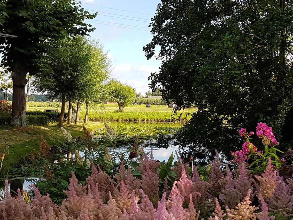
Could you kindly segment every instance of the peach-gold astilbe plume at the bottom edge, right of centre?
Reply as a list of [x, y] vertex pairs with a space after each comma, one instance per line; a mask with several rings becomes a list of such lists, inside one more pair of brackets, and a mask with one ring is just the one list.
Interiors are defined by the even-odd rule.
[[255, 210], [257, 210], [256, 207], [250, 206], [251, 201], [251, 190], [249, 189], [247, 196], [244, 198], [244, 200], [239, 203], [235, 209], [229, 209], [226, 207], [226, 211], [228, 214], [229, 219], [234, 220], [251, 220], [256, 219], [256, 214], [254, 213]]

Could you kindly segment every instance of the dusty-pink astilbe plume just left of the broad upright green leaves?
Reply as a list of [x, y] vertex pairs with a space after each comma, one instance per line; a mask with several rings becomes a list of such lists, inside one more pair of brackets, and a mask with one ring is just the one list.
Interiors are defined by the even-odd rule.
[[142, 174], [142, 190], [149, 197], [151, 202], [156, 205], [159, 201], [159, 176], [157, 171], [152, 172], [149, 164], [146, 164], [146, 172]]

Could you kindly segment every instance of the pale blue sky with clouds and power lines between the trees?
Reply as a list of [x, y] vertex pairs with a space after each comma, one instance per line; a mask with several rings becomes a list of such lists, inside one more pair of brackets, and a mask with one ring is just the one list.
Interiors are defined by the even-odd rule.
[[96, 28], [90, 35], [93, 39], [99, 39], [104, 51], [108, 53], [112, 64], [111, 77], [132, 86], [137, 93], [145, 94], [150, 90], [148, 86], [150, 73], [158, 72], [160, 67], [159, 60], [155, 57], [147, 60], [142, 50], [142, 47], [151, 41], [152, 34], [149, 33], [151, 29], [148, 25], [160, 1], [81, 0], [81, 2], [84, 9], [93, 13], [98, 12], [96, 18], [88, 21]]

